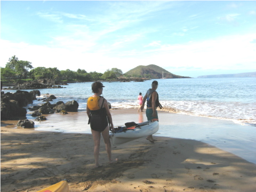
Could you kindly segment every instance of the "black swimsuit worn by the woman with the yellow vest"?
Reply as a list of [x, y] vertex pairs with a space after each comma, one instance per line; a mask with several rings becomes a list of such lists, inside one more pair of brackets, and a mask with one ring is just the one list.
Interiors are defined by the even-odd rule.
[[89, 122], [91, 129], [94, 131], [102, 132], [108, 126], [108, 118], [106, 108], [102, 108], [104, 99], [101, 105], [101, 108], [98, 110], [91, 110], [89, 117]]

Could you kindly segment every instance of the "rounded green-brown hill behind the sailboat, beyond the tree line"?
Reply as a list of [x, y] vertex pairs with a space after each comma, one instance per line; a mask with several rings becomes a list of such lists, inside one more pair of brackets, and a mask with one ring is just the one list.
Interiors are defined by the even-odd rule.
[[169, 71], [163, 69], [162, 67], [158, 67], [156, 65], [148, 65], [148, 66], [138, 66], [129, 71], [127, 71], [124, 76], [126, 77], [139, 77], [139, 78], [153, 78], [159, 79], [163, 78], [190, 78], [190, 77], [183, 77], [179, 75], [174, 75]]

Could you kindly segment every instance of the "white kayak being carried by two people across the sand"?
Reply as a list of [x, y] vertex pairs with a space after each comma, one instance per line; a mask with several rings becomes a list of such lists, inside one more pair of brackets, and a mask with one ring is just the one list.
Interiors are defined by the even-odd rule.
[[119, 133], [111, 132], [110, 140], [112, 140], [113, 145], [120, 145], [125, 142], [129, 142], [154, 134], [158, 131], [158, 129], [158, 121], [147, 121], [143, 123], [138, 123], [134, 129]]

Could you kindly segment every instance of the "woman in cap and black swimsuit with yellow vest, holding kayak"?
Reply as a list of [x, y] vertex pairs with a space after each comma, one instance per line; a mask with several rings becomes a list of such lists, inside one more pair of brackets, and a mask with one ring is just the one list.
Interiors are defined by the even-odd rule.
[[100, 96], [103, 91], [103, 84], [101, 82], [94, 82], [92, 84], [92, 92], [94, 93], [87, 100], [86, 113], [89, 117], [89, 122], [94, 141], [94, 159], [95, 167], [100, 166], [100, 137], [102, 135], [105, 142], [106, 151], [108, 154], [109, 163], [115, 162], [111, 157], [111, 144], [109, 140], [109, 130], [114, 130], [112, 117], [109, 111], [108, 102], [105, 98]]

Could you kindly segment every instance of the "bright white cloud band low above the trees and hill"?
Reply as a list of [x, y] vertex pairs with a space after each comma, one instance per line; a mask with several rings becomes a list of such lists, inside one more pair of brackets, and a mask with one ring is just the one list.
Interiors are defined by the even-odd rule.
[[155, 46], [156, 49], [131, 54], [125, 59], [120, 57], [122, 52], [110, 56], [101, 50], [90, 53], [82, 49], [69, 49], [64, 45], [63, 47], [47, 47], [1, 40], [1, 53], [6, 55], [6, 57], [1, 57], [1, 66], [5, 67], [8, 59], [15, 54], [19, 60], [32, 62], [33, 67], [57, 67], [59, 70], [80, 68], [88, 72], [100, 73], [114, 67], [125, 73], [138, 65], [152, 63], [163, 68], [180, 67], [187, 70], [194, 70], [193, 68], [203, 70], [256, 69], [256, 44], [252, 43], [255, 36], [256, 34], [228, 36], [177, 45], [161, 45], [162, 42], [155, 41], [151, 45], [158, 45], [158, 47]]

